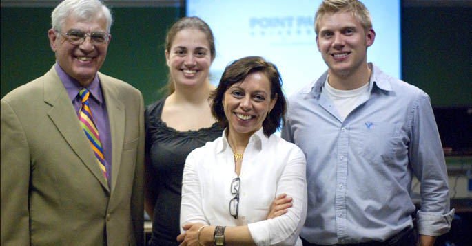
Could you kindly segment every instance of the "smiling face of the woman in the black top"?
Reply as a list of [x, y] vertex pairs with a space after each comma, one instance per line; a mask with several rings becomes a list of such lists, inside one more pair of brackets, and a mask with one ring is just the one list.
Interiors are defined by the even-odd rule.
[[196, 29], [177, 32], [170, 52], [165, 51], [167, 66], [176, 87], [201, 85], [208, 80], [212, 54], [205, 33]]

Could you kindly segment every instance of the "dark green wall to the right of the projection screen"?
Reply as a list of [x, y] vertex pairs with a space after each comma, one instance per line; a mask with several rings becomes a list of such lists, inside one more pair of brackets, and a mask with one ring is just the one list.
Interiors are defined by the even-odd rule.
[[402, 79], [433, 107], [472, 106], [471, 13], [472, 4], [402, 8]]

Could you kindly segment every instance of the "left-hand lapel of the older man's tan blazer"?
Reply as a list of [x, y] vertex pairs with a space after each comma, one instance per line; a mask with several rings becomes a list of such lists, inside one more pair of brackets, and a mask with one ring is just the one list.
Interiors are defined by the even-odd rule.
[[99, 179], [102, 186], [108, 190], [108, 185], [99, 165], [96, 163], [96, 157], [90, 148], [90, 142], [83, 133], [83, 128], [79, 124], [78, 116], [75, 113], [72, 102], [65, 91], [61, 80], [54, 70], [54, 66], [45, 74], [44, 82], [44, 102], [52, 107], [48, 111], [48, 116], [54, 122], [59, 132], [74, 153], [83, 161], [83, 164]]

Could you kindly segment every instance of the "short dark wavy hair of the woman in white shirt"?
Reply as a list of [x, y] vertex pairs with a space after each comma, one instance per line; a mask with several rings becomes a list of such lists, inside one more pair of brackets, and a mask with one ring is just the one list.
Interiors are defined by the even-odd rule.
[[242, 82], [248, 74], [256, 71], [263, 72], [271, 83], [270, 98], [274, 99], [277, 95], [277, 101], [263, 121], [264, 134], [269, 137], [280, 128], [281, 124], [285, 124], [285, 111], [287, 111], [287, 102], [282, 92], [282, 78], [274, 63], [269, 63], [260, 56], [247, 56], [235, 60], [228, 65], [221, 76], [220, 84], [212, 93], [209, 100], [212, 107], [212, 114], [216, 121], [223, 127], [228, 126], [228, 120], [223, 108], [223, 98], [229, 87], [237, 82]]

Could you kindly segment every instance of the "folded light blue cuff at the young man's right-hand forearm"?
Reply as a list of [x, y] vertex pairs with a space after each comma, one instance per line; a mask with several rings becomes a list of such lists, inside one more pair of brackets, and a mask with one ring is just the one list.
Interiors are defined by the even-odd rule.
[[455, 210], [447, 214], [418, 211], [418, 234], [427, 236], [441, 236], [449, 232]]

